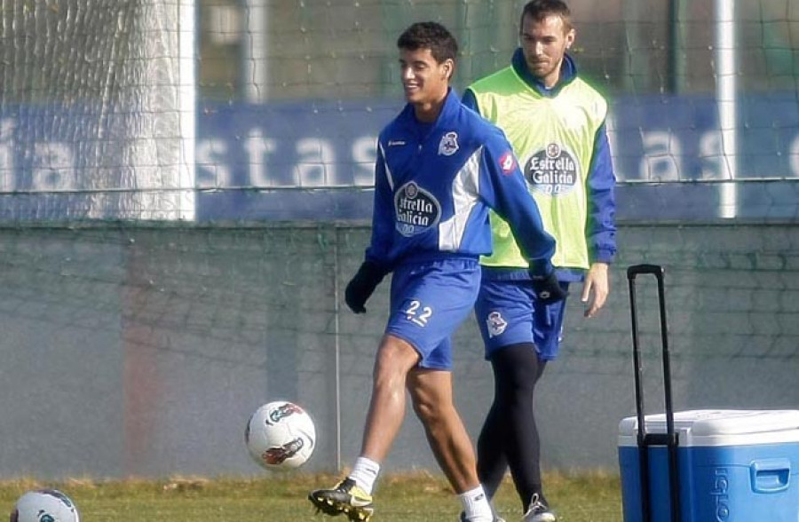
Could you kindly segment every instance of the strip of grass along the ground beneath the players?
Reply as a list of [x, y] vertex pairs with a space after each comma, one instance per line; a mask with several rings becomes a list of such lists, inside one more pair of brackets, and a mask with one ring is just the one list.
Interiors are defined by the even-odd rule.
[[[602, 472], [547, 474], [547, 494], [561, 522], [620, 522], [621, 493], [617, 475]], [[305, 499], [316, 487], [332, 486], [336, 477], [300, 473], [258, 479], [168, 479], [63, 483], [32, 480], [0, 482], [0, 509], [12, 510], [17, 498], [36, 487], [56, 487], [75, 501], [82, 522], [295, 522], [326, 520]], [[495, 499], [508, 522], [521, 519], [510, 480]], [[460, 504], [447, 482], [427, 473], [386, 474], [378, 483], [374, 522], [455, 522]], [[0, 519], [4, 519], [0, 513]]]

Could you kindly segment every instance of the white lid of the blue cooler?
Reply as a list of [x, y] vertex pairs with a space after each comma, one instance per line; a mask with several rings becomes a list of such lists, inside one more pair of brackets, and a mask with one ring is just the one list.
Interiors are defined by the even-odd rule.
[[[666, 414], [646, 415], [647, 433], [666, 432]], [[727, 446], [799, 441], [799, 410], [697, 409], [675, 412], [680, 446]], [[619, 444], [637, 445], [638, 419], [619, 423]]]

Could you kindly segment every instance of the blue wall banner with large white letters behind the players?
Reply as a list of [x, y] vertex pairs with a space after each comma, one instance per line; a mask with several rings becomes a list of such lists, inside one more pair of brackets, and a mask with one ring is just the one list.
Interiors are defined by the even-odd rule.
[[[376, 135], [400, 106], [386, 99], [203, 104], [196, 142], [198, 220], [369, 218], [371, 193], [353, 187], [371, 185]], [[795, 218], [795, 93], [742, 98], [738, 115], [738, 178], [746, 181], [736, 184], [735, 214]], [[614, 100], [609, 135], [621, 182], [619, 218], [716, 218], [718, 182], [729, 179], [717, 122], [709, 97]], [[137, 189], [136, 168], [127, 169], [127, 178], [123, 174], [131, 154], [124, 133], [113, 128], [118, 124], [104, 123], [86, 107], [4, 107], [0, 218], [117, 218], [113, 206], [92, 209], [92, 191]], [[100, 130], [112, 138], [100, 142]], [[112, 158], [108, 165], [118, 156], [120, 167], [98, 168], [98, 154]]]

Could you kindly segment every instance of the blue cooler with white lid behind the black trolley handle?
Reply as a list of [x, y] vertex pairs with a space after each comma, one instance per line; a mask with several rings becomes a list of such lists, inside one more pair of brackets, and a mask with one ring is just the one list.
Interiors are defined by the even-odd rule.
[[[619, 424], [625, 522], [643, 522], [637, 417]], [[666, 415], [645, 432], [666, 433]], [[799, 410], [676, 412], [682, 522], [799, 522]], [[668, 448], [649, 447], [653, 522], [670, 522]]]

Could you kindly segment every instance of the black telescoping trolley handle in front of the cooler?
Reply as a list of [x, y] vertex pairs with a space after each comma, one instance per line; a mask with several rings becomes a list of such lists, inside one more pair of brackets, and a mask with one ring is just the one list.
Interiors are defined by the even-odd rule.
[[[641, 476], [641, 508], [644, 522], [651, 522], [652, 502], [649, 471], [649, 447], [668, 447], [668, 489], [671, 501], [671, 521], [680, 522], [680, 485], [677, 469], [677, 435], [674, 430], [674, 407], [671, 403], [671, 367], [668, 360], [668, 332], [666, 323], [666, 296], [663, 285], [665, 271], [660, 265], [632, 265], [627, 269], [629, 282], [629, 311], [632, 319], [633, 365], [636, 379], [636, 413], [638, 420], [638, 462]], [[652, 274], [658, 282], [658, 305], [661, 312], [661, 345], [663, 355], [663, 387], [666, 393], [666, 433], [647, 433], [644, 419], [644, 384], [642, 380], [643, 362], [638, 344], [638, 320], [636, 306], [636, 277]]]

